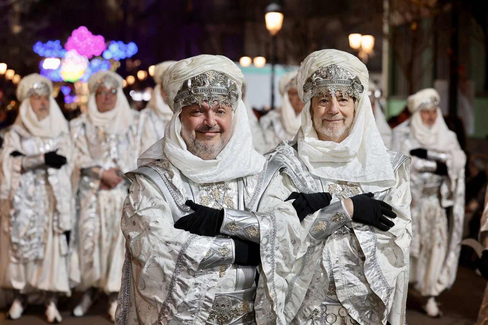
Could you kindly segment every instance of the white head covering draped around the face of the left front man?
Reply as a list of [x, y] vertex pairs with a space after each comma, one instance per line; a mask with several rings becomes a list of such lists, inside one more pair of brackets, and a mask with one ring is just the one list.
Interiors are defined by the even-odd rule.
[[239, 94], [237, 104], [233, 107], [232, 136], [225, 148], [213, 160], [203, 160], [190, 153], [181, 136], [181, 110], [177, 110], [166, 126], [163, 139], [142, 153], [138, 159], [139, 165], [156, 159], [168, 159], [186, 177], [198, 184], [228, 181], [256, 174], [263, 169], [265, 159], [252, 146], [247, 113], [241, 100], [243, 74], [227, 57], [200, 55], [172, 64], [163, 75], [163, 88], [169, 107], [174, 110], [174, 98], [183, 82], [210, 70], [228, 76], [236, 83]]

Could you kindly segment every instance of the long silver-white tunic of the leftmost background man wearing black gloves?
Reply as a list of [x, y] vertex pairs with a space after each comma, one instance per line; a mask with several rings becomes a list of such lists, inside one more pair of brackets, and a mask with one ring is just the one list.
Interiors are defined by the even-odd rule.
[[[61, 169], [48, 168], [43, 153], [56, 150], [68, 163]], [[23, 155], [14, 157], [14, 151]], [[32, 136], [14, 125], [4, 136], [0, 157], [1, 287], [69, 295], [66, 232], [74, 223], [70, 135]]]

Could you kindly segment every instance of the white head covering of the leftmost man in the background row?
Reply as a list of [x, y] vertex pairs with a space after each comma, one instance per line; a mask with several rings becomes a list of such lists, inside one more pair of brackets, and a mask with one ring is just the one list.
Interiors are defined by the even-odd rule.
[[[36, 113], [32, 110], [29, 100], [30, 96], [40, 91], [49, 96], [49, 115], [41, 121], [38, 120]], [[68, 122], [62, 115], [58, 103], [51, 95], [52, 92], [53, 83], [40, 74], [31, 74], [23, 77], [17, 87], [17, 99], [21, 103], [19, 115], [17, 115], [14, 125], [23, 125], [34, 136], [54, 138], [61, 132], [68, 134]]]

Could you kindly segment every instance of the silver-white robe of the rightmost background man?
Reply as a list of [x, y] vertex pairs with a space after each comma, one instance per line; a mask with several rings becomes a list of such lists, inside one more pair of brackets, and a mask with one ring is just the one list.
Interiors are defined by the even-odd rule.
[[[409, 120], [393, 129], [392, 146], [405, 154], [422, 148]], [[412, 157], [410, 282], [423, 296], [438, 296], [456, 278], [463, 233], [466, 155], [459, 144], [454, 147], [452, 152], [442, 153], [447, 159], [447, 175], [435, 174], [435, 160]]]

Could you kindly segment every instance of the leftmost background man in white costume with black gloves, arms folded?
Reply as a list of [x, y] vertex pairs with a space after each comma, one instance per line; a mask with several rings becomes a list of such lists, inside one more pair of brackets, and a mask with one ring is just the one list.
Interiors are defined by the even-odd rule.
[[20, 318], [28, 296], [41, 294], [49, 323], [62, 320], [57, 297], [71, 294], [74, 222], [71, 137], [52, 90], [52, 82], [39, 74], [20, 80], [19, 115], [0, 153], [0, 281], [16, 291], [8, 315]]

